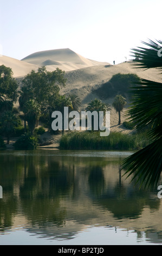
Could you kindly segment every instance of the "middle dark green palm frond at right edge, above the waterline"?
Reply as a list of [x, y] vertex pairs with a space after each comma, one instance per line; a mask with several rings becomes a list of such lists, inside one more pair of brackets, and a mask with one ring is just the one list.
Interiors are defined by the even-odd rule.
[[150, 135], [158, 138], [162, 135], [162, 83], [139, 78], [136, 84], [130, 89], [133, 96], [127, 114], [139, 130], [150, 124]]

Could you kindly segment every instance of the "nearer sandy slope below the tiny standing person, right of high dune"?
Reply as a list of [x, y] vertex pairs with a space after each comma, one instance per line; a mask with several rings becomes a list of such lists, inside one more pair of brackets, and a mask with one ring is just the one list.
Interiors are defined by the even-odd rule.
[[[66, 72], [67, 86], [61, 89], [61, 93], [73, 92], [77, 94], [82, 100], [82, 107], [84, 108], [90, 100], [98, 97], [94, 90], [118, 73], [133, 73], [141, 78], [161, 82], [161, 75], [157, 69], [137, 69], [133, 62], [125, 62], [118, 65], [99, 65]], [[108, 99], [107, 102], [112, 103], [112, 100]]]

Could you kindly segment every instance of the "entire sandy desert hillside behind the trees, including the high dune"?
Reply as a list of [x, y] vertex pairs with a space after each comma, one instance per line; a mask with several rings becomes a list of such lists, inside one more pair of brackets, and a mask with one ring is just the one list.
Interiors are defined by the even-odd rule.
[[[85, 109], [88, 102], [95, 97], [112, 106], [114, 97], [103, 99], [97, 92], [115, 74], [137, 74], [141, 78], [161, 82], [161, 76], [157, 69], [137, 69], [134, 62], [124, 62], [118, 65], [101, 63], [82, 57], [69, 48], [36, 52], [22, 60], [2, 56], [0, 65], [9, 66], [17, 79], [27, 75], [32, 69], [37, 70], [43, 65], [48, 71], [53, 71], [56, 68], [66, 71], [67, 86], [61, 89], [61, 94], [72, 92], [77, 94], [82, 102], [81, 109]], [[126, 120], [125, 112], [126, 108], [121, 115], [122, 122]], [[112, 130], [128, 132], [122, 125], [118, 126], [118, 114], [113, 107], [111, 109], [111, 127]]]

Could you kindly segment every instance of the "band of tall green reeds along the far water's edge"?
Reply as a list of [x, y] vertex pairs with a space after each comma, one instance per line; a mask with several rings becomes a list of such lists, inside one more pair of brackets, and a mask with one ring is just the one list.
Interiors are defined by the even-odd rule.
[[101, 137], [99, 131], [68, 132], [60, 141], [60, 149], [71, 150], [137, 150], [148, 145], [150, 140], [146, 133], [127, 135], [111, 132], [107, 137]]

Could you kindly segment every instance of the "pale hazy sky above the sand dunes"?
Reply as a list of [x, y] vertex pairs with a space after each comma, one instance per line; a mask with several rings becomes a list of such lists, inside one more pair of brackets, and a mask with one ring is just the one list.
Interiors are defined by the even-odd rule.
[[147, 39], [161, 40], [161, 0], [1, 0], [2, 53], [70, 48], [101, 62], [124, 62]]

